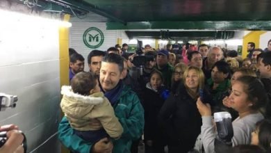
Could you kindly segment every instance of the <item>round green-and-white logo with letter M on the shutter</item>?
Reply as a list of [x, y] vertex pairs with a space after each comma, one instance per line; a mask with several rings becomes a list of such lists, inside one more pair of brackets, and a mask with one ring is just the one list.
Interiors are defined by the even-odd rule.
[[90, 27], [83, 34], [83, 42], [87, 47], [96, 49], [104, 43], [104, 33], [100, 29]]

